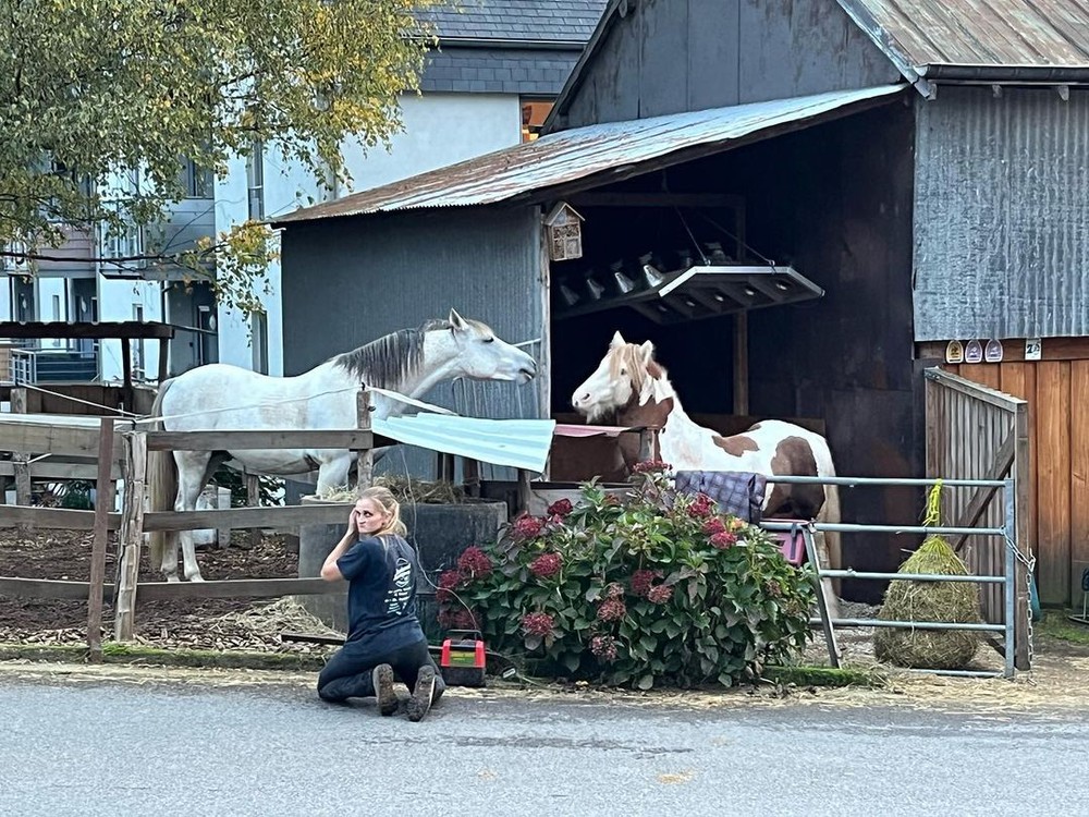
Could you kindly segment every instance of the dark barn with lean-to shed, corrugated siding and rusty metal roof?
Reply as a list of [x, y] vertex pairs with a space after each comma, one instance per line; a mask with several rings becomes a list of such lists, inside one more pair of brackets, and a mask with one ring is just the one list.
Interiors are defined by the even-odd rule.
[[[285, 373], [454, 306], [534, 341], [542, 376], [431, 398], [563, 416], [619, 329], [690, 413], [796, 418], [841, 474], [911, 477], [923, 373], [954, 368], [1030, 405], [1021, 546], [1068, 602], [1089, 566], [1087, 83], [1086, 0], [612, 0], [536, 142], [276, 223]], [[552, 244], [565, 219], [580, 246]], [[900, 487], [843, 504], [921, 508]], [[861, 570], [904, 547], [844, 542]]]

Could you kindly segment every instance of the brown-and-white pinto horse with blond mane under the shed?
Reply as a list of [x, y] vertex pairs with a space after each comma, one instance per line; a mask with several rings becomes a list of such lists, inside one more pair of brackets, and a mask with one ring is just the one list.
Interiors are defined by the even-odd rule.
[[[772, 476], [835, 476], [828, 441], [793, 423], [766, 419], [743, 434], [723, 437], [695, 423], [684, 411], [665, 369], [654, 359], [654, 345], [627, 343], [620, 332], [586, 381], [575, 389], [572, 405], [588, 422], [615, 413], [616, 424], [651, 426], [658, 435], [654, 454], [675, 471], [737, 471]], [[634, 451], [621, 449], [626, 465]], [[764, 517], [840, 522], [836, 486], [771, 483], [762, 505]], [[817, 536], [824, 565], [840, 566], [839, 534]], [[839, 605], [832, 583], [824, 580], [829, 612]]]

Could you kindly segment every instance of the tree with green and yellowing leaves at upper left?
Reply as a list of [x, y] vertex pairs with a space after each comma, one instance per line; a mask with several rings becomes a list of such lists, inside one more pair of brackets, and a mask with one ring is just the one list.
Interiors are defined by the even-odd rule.
[[[184, 196], [183, 158], [222, 173], [265, 143], [346, 181], [344, 138], [372, 148], [401, 127], [435, 1], [0, 0], [0, 252], [33, 267], [62, 224], [154, 225]], [[274, 254], [250, 221], [110, 263], [181, 266], [248, 313]]]

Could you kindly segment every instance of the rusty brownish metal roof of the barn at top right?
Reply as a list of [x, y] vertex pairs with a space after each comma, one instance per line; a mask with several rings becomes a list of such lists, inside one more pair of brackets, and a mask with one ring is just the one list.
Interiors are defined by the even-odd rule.
[[897, 65], [1089, 66], [1089, 0], [839, 2]]

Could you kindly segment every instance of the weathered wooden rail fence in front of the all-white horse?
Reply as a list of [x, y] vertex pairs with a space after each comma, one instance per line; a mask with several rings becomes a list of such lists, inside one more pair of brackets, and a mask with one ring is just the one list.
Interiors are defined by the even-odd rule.
[[[53, 420], [53, 422], [50, 422]], [[383, 441], [383, 444], [389, 441]], [[284, 508], [238, 508], [208, 511], [147, 511], [145, 486], [148, 451], [242, 450], [242, 449], [350, 449], [357, 455], [360, 486], [372, 474], [375, 436], [370, 428], [370, 395], [360, 392], [358, 426], [343, 430], [313, 431], [145, 431], [131, 420], [102, 417], [95, 423], [60, 423], [57, 418], [34, 422], [20, 418], [0, 423], [0, 451], [49, 451], [57, 454], [98, 456], [97, 493], [94, 511], [8, 505], [0, 509], [5, 525], [61, 527], [93, 531], [90, 576], [87, 582], [0, 577], [0, 595], [48, 599], [88, 600], [87, 641], [91, 659], [101, 658], [103, 598], [114, 599], [114, 638], [129, 641], [135, 630], [137, 595], [142, 599], [279, 598], [282, 596], [342, 593], [341, 583], [321, 578], [261, 578], [211, 582], [137, 582], [139, 553], [145, 533], [294, 527], [307, 524], [341, 523], [344, 508], [339, 504]], [[113, 507], [112, 483], [120, 475], [125, 491], [120, 513]], [[106, 550], [109, 532], [118, 532], [118, 580], [106, 582]]]

